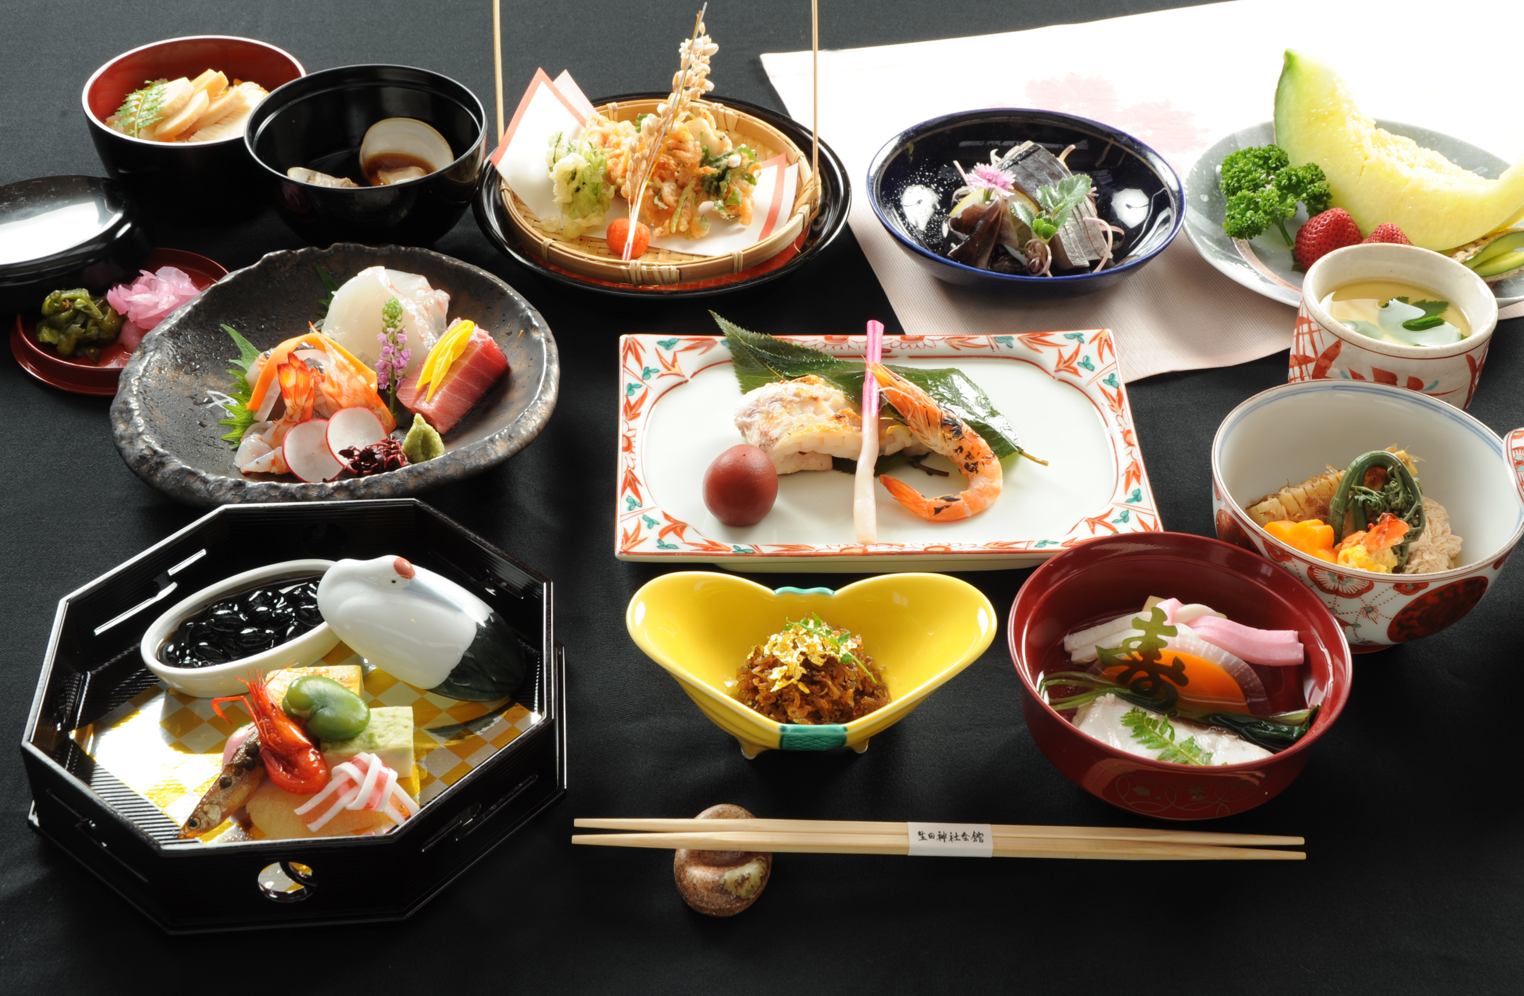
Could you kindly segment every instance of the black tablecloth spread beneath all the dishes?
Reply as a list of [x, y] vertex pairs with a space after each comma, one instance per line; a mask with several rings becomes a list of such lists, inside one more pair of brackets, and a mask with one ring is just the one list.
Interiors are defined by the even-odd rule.
[[[1155, 6], [1169, 5], [828, 0], [821, 41], [888, 44]], [[504, 8], [511, 101], [536, 65], [552, 75], [570, 67], [594, 97], [660, 87], [693, 12], [675, 0]], [[782, 110], [757, 55], [808, 47], [808, 15], [805, 0], [712, 5], [718, 93]], [[1308, 41], [1301, 24], [1266, 23], [1265, 30], [1283, 30], [1288, 44]], [[309, 70], [422, 65], [460, 79], [491, 108], [486, 0], [8, 0], [0, 6], [0, 183], [102, 174], [79, 105], [85, 78], [119, 52], [189, 34], [262, 38]], [[1055, 55], [1012, 52], [1018, 61]], [[1195, 58], [1169, 55], [1177, 56]], [[959, 85], [952, 67], [948, 85]], [[1462, 82], [1436, 85], [1458, 96]], [[273, 216], [235, 230], [160, 230], [157, 242], [229, 268], [299, 245]], [[1518, 567], [1451, 630], [1361, 658], [1349, 708], [1297, 783], [1257, 810], [1210, 824], [1305, 835], [1305, 864], [788, 854], [751, 911], [710, 920], [678, 900], [668, 853], [573, 850], [573, 816], [692, 815], [719, 801], [796, 818], [1140, 819], [1077, 789], [1033, 746], [1004, 626], [983, 659], [867, 754], [773, 751], [744, 760], [631, 644], [625, 603], [657, 568], [613, 556], [616, 337], [713, 332], [706, 305], [568, 292], [507, 262], [469, 215], [436, 248], [518, 288], [561, 346], [561, 402], [541, 437], [427, 501], [556, 582], [570, 675], [570, 793], [407, 923], [172, 938], [27, 828], [29, 790], [12, 754], [0, 765], [0, 990], [1346, 993], [1516, 991], [1524, 982], [1521, 807], [1509, 774], [1519, 696], [1507, 684], [1518, 679]], [[856, 330], [867, 318], [899, 330], [850, 233], [786, 283], [713, 306], [776, 334]], [[1524, 349], [1513, 341], [1521, 324], [1500, 326], [1471, 410], [1498, 433], [1524, 423]], [[1228, 410], [1282, 382], [1285, 370], [1279, 353], [1129, 385], [1167, 528], [1212, 533], [1212, 436]], [[58, 599], [198, 515], [128, 472], [111, 445], [107, 407], [107, 399], [43, 387], [9, 356], [0, 359], [0, 717], [17, 739]], [[965, 577], [1004, 614], [1027, 574]], [[852, 577], [776, 580], [841, 585]]]

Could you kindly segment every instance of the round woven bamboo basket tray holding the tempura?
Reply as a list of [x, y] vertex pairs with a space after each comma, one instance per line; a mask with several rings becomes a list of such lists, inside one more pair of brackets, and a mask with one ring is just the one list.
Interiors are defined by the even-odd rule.
[[[664, 99], [651, 97], [645, 101], [613, 102], [599, 107], [597, 111], [610, 120], [634, 122], [637, 114], [655, 113], [657, 104]], [[770, 160], [782, 152], [785, 161], [799, 168], [794, 204], [782, 207], [788, 215], [779, 219], [773, 235], [754, 245], [721, 256], [703, 256], [651, 247], [639, 259], [626, 263], [619, 259], [619, 251], [610, 248], [604, 239], [587, 236], [568, 239], [564, 235], [547, 231], [541, 225], [539, 218], [507, 186], [507, 181], [500, 180], [503, 206], [507, 209], [509, 225], [514, 228], [518, 241], [529, 253], [552, 267], [568, 270], [584, 277], [593, 277], [594, 280], [637, 286], [668, 286], [724, 277], [767, 262], [788, 248], [809, 227], [809, 222], [820, 210], [820, 180], [809, 169], [809, 155], [777, 128], [745, 111], [738, 111], [721, 104], [704, 102], [696, 105], [709, 108], [715, 116], [715, 123], [722, 131], [730, 132], [732, 139], [751, 146], [759, 160]], [[549, 178], [546, 183], [549, 183]], [[762, 206], [759, 206], [760, 209]], [[695, 241], [693, 245], [701, 247], [703, 241]]]

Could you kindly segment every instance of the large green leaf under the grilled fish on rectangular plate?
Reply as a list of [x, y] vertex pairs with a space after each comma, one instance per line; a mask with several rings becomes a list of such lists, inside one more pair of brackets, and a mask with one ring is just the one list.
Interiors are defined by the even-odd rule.
[[[754, 391], [764, 384], [815, 375], [841, 388], [853, 402], [863, 404], [864, 366], [861, 359], [843, 359], [809, 346], [788, 343], [762, 332], [750, 332], [715, 312], [709, 314], [719, 324], [719, 330], [725, 334], [725, 346], [730, 347], [732, 366], [741, 393]], [[952, 367], [925, 370], [893, 364], [888, 369], [931, 394], [939, 405], [971, 425], [989, 443], [998, 460], [1023, 455], [1036, 463], [1047, 463], [1027, 454], [1017, 443], [1015, 426], [1006, 416], [995, 411], [978, 384], [974, 384], [962, 370]], [[893, 416], [895, 410], [887, 401], [881, 401], [879, 413]]]

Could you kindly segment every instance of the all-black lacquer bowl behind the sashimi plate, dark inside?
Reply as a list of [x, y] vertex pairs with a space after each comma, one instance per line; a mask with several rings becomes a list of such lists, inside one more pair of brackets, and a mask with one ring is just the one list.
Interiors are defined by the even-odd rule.
[[[456, 160], [387, 187], [320, 187], [287, 177], [306, 166], [363, 180], [360, 142], [386, 117], [433, 125]], [[482, 101], [448, 76], [407, 65], [341, 65], [293, 81], [255, 108], [244, 132], [276, 210], [314, 245], [430, 245], [450, 231], [475, 193], [485, 160]]]

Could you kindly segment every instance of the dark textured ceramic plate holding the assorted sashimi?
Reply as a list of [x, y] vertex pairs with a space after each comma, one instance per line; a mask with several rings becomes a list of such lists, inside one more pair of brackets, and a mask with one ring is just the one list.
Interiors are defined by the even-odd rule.
[[[443, 457], [390, 474], [303, 484], [294, 477], [244, 475], [223, 442], [223, 408], [209, 391], [227, 390], [238, 352], [230, 324], [259, 349], [302, 332], [325, 297], [315, 267], [340, 282], [366, 267], [418, 273], [450, 292], [450, 315], [468, 317], [507, 356], [509, 376], [445, 437]], [[561, 364], [556, 341], [529, 302], [485, 270], [430, 250], [334, 245], [270, 253], [236, 270], [149, 332], [122, 372], [111, 404], [111, 436], [133, 472], [177, 501], [315, 501], [401, 498], [507, 460], [527, 446], [556, 405]]]

